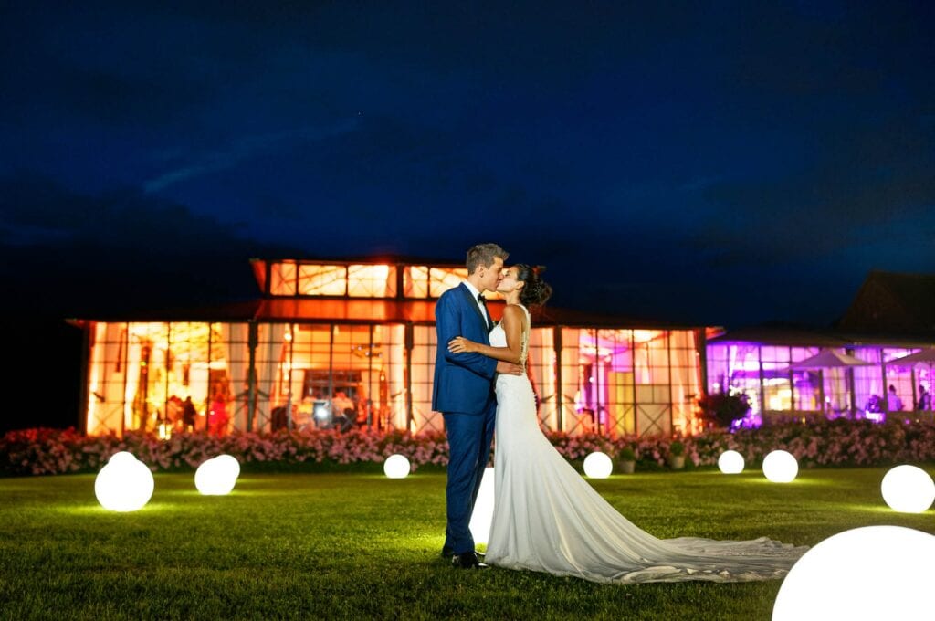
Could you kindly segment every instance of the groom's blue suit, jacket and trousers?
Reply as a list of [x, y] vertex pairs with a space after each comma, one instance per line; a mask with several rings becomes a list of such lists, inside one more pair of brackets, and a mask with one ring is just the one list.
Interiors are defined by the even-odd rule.
[[452, 354], [448, 341], [464, 337], [489, 345], [488, 321], [489, 314], [483, 316], [464, 283], [442, 294], [435, 306], [438, 352], [432, 410], [444, 416], [450, 454], [445, 488], [448, 524], [442, 549], [446, 555], [474, 550], [470, 515], [490, 456], [496, 415], [496, 360], [482, 354]]

